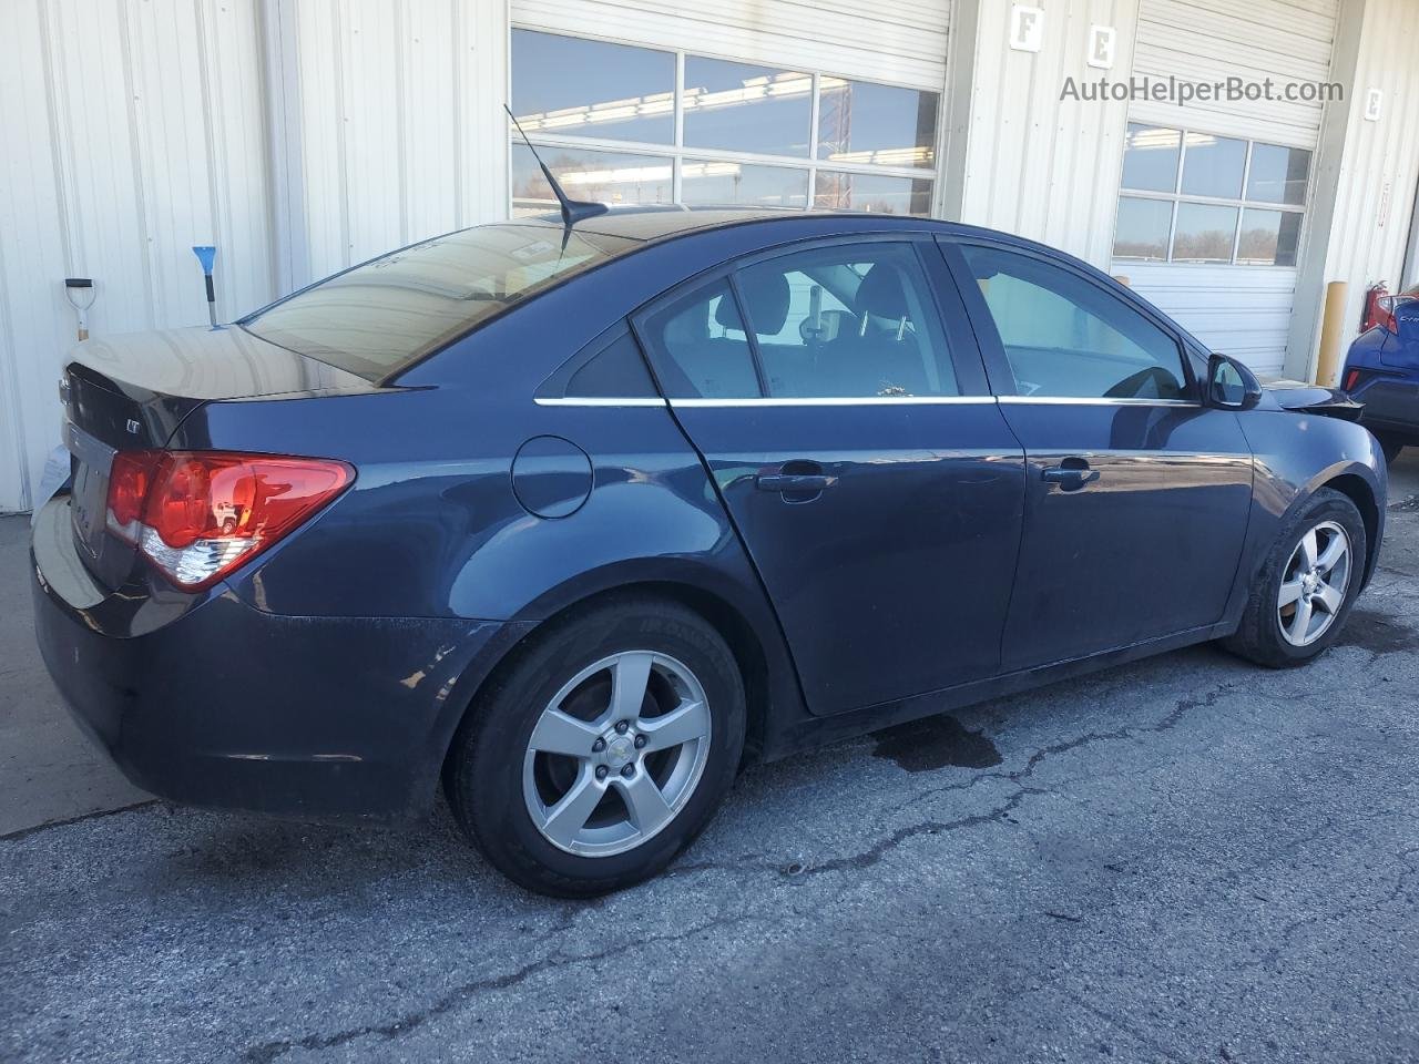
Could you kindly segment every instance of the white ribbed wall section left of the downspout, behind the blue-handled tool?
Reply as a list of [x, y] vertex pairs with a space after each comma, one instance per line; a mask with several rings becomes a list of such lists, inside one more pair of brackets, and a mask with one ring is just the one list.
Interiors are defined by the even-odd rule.
[[0, 509], [23, 509], [58, 441], [74, 342], [206, 321], [192, 244], [221, 247], [223, 306], [270, 298], [254, 0], [6, 0], [0, 43]]

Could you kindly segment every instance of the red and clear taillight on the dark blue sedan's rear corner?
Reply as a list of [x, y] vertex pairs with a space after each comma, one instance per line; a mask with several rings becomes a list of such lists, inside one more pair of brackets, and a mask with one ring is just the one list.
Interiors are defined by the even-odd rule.
[[123, 451], [109, 472], [108, 528], [194, 592], [308, 521], [353, 475], [325, 458]]

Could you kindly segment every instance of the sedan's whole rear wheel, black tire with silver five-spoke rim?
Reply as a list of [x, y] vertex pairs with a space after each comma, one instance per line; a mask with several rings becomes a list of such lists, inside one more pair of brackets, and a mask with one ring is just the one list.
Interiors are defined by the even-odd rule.
[[509, 880], [589, 898], [654, 875], [700, 834], [744, 733], [719, 633], [677, 603], [617, 596], [553, 621], [480, 692], [444, 789]]

